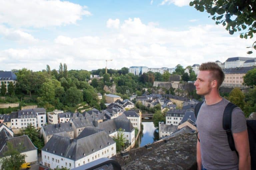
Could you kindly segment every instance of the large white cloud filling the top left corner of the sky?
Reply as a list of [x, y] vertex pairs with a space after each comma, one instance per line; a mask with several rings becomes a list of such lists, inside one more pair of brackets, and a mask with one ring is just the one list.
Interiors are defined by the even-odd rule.
[[60, 0], [0, 0], [0, 24], [13, 27], [48, 27], [75, 24], [91, 13], [86, 6]]

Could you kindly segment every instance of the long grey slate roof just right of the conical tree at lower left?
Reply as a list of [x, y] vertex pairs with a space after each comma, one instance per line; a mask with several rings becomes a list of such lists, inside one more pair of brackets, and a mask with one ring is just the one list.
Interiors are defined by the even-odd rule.
[[73, 131], [72, 124], [70, 122], [48, 124], [42, 127], [46, 136], [60, 132]]

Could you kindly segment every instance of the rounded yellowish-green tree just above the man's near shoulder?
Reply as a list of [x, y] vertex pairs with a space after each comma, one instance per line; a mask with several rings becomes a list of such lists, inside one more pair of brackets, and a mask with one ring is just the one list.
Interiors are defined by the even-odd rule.
[[240, 90], [240, 88], [234, 88], [231, 90], [228, 96], [228, 100], [240, 107], [242, 110], [244, 108], [245, 104], [245, 95], [244, 93]]

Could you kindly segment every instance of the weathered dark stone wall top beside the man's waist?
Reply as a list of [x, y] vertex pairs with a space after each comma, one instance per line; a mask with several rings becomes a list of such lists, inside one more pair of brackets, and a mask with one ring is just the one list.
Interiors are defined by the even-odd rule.
[[126, 152], [128, 156], [118, 154], [112, 159], [116, 160], [123, 170], [196, 170], [196, 142], [195, 134], [180, 134], [174, 138], [159, 140], [149, 149], [132, 149]]

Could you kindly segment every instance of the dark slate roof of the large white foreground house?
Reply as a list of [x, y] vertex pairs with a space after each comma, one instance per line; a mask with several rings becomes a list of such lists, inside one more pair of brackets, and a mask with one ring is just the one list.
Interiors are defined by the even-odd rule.
[[[85, 128], [84, 130], [86, 131], [88, 129]], [[53, 135], [42, 150], [46, 151], [47, 149], [46, 152], [76, 161], [114, 143], [115, 141], [104, 130], [101, 130], [89, 136], [73, 140], [67, 137]]]

